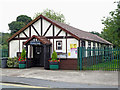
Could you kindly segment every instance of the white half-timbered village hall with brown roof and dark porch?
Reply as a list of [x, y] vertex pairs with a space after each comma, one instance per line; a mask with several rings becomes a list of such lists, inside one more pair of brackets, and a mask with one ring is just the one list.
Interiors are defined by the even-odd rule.
[[38, 16], [8, 39], [9, 57], [26, 49], [27, 67], [49, 68], [52, 52], [60, 58], [60, 69], [77, 69], [77, 47], [110, 47], [103, 38], [70, 25]]

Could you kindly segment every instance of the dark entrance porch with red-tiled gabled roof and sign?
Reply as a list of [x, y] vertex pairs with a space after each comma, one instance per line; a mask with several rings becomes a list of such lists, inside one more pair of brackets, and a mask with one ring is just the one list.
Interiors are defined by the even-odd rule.
[[[52, 43], [44, 36], [35, 36], [33, 35], [31, 38], [29, 38], [24, 45], [26, 45], [26, 67], [31, 67], [32, 63], [29, 63], [29, 60], [31, 58], [28, 58], [28, 45], [33, 47], [39, 47], [41, 49], [34, 48], [33, 51], [36, 51], [33, 53], [34, 57], [33, 60], [37, 61], [37, 66], [44, 66], [45, 69], [49, 68], [49, 62], [48, 59], [50, 58], [51, 53], [51, 45]], [[31, 51], [30, 51], [31, 52]], [[40, 63], [41, 62], [41, 63]]]

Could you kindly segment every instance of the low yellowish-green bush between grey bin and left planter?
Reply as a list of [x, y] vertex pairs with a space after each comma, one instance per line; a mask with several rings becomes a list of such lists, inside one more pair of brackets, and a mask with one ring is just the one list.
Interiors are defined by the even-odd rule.
[[18, 67], [19, 66], [18, 58], [17, 57], [8, 58], [7, 66], [8, 67]]

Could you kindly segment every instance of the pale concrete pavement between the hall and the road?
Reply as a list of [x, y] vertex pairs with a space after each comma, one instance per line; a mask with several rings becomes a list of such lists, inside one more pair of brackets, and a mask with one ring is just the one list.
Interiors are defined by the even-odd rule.
[[72, 83], [71, 86], [76, 84], [76, 87], [77, 85], [118, 87], [118, 71], [44, 70], [41, 67], [27, 69], [5, 68], [0, 70], [2, 71], [2, 78], [47, 80], [55, 83], [58, 82], [58, 85], [59, 82], [62, 82], [64, 85], [65, 83]]

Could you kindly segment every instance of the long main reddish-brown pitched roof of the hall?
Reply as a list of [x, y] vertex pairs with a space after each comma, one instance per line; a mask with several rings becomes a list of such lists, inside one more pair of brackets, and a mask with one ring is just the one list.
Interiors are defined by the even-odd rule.
[[23, 27], [22, 29], [20, 29], [18, 32], [16, 32], [12, 37], [10, 37], [8, 39], [8, 41], [10, 41], [11, 39], [13, 39], [15, 36], [17, 36], [20, 32], [24, 31], [26, 28], [28, 28], [31, 24], [35, 23], [37, 20], [39, 20], [40, 18], [44, 18], [45, 20], [47, 20], [48, 22], [52, 23], [53, 25], [57, 26], [58, 28], [62, 29], [63, 31], [69, 33], [70, 35], [72, 35], [73, 37], [75, 37], [76, 39], [80, 40], [90, 40], [90, 41], [96, 41], [96, 42], [100, 42], [100, 43], [105, 43], [105, 44], [111, 44], [110, 42], [104, 40], [103, 38], [86, 32], [86, 31], [82, 31], [80, 29], [77, 29], [75, 27], [72, 27], [70, 25], [64, 24], [64, 23], [60, 23], [58, 21], [46, 18], [43, 15], [38, 16], [37, 18], [35, 18], [34, 20], [32, 20], [30, 23], [28, 23], [25, 27]]

